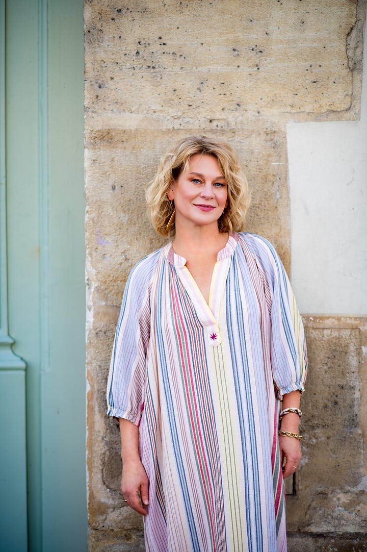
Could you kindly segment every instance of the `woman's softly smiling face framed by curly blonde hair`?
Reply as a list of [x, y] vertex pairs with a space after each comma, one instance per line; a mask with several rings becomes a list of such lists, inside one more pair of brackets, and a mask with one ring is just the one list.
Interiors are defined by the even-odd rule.
[[173, 182], [168, 198], [174, 201], [176, 232], [183, 225], [218, 227], [227, 206], [228, 190], [216, 157], [197, 154]]

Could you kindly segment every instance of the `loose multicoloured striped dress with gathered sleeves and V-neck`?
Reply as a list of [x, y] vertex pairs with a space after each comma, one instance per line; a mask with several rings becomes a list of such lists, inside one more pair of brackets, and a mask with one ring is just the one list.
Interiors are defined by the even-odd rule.
[[139, 425], [148, 552], [286, 550], [283, 394], [303, 391], [304, 329], [264, 238], [233, 232], [209, 305], [171, 244], [132, 270], [108, 414]]

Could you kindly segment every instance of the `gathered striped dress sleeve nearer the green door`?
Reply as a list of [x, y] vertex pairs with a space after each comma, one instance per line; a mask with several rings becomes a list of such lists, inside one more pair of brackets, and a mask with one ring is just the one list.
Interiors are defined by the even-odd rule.
[[146, 259], [127, 280], [116, 327], [107, 385], [108, 415], [139, 425], [150, 338], [150, 270]]

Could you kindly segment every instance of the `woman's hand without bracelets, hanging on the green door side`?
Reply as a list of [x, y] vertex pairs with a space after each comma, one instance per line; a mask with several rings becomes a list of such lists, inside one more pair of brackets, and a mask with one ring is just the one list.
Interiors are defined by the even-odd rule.
[[130, 508], [146, 516], [149, 504], [149, 480], [140, 460], [125, 460], [121, 476], [121, 492]]

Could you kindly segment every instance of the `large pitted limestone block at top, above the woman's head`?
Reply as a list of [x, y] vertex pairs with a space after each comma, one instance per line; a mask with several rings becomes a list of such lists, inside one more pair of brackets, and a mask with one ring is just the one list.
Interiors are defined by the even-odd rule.
[[119, 128], [227, 130], [246, 113], [349, 110], [355, 21], [340, 0], [87, 2], [88, 112]]

